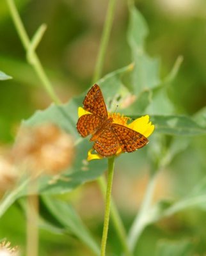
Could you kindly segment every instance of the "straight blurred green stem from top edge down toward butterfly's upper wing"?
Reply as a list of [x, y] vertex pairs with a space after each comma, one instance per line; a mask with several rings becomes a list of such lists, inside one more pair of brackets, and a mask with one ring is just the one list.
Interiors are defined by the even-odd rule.
[[94, 76], [93, 76], [93, 83], [96, 83], [97, 80], [99, 80], [100, 76], [102, 75], [104, 58], [105, 58], [106, 49], [107, 49], [107, 45], [109, 42], [109, 35], [111, 33], [111, 27], [112, 27], [113, 19], [114, 19], [115, 4], [116, 4], [116, 0], [109, 0], [106, 20], [104, 23], [102, 38], [100, 41], [99, 54], [97, 56], [97, 63], [96, 63], [95, 72], [94, 72]]

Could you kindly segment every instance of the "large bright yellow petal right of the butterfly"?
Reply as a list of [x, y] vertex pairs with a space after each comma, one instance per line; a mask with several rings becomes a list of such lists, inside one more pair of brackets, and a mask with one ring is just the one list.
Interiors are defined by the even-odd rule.
[[128, 127], [143, 134], [147, 138], [154, 131], [154, 125], [152, 122], [149, 122], [149, 118], [150, 117], [148, 115], [141, 116], [129, 124]]

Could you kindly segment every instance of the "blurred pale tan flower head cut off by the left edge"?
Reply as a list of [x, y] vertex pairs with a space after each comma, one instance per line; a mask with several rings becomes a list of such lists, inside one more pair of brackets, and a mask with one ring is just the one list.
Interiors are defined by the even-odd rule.
[[17, 177], [17, 168], [15, 168], [12, 161], [6, 156], [0, 156], [0, 193], [4, 193], [6, 190], [12, 188]]

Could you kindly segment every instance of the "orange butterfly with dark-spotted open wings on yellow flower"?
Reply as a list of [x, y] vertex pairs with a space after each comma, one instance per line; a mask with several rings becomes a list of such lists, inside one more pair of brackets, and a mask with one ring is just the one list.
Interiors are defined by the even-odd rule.
[[94, 84], [83, 101], [84, 110], [90, 112], [79, 118], [77, 131], [81, 136], [92, 135], [93, 148], [104, 157], [113, 156], [119, 148], [123, 152], [134, 152], [147, 145], [143, 134], [129, 127], [113, 123], [107, 113], [104, 97], [99, 85]]

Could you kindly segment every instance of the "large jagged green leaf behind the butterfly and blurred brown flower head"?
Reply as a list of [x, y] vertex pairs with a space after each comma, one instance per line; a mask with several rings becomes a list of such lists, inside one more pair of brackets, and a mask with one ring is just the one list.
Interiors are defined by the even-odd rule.
[[[129, 93], [121, 81], [121, 77], [125, 72], [131, 72], [131, 65], [108, 74], [98, 82], [104, 94], [104, 99], [106, 99], [107, 105], [111, 105], [111, 108], [113, 108], [111, 99], [125, 97]], [[88, 90], [79, 97], [70, 100], [67, 104], [60, 106], [52, 104], [44, 111], [36, 111], [31, 118], [22, 122], [22, 126], [26, 125], [28, 127], [45, 123], [56, 124], [64, 131], [72, 134], [75, 139], [75, 161], [73, 166], [65, 170], [58, 179], [53, 179], [49, 176], [40, 177], [38, 179], [38, 192], [40, 194], [67, 193], [85, 182], [97, 179], [107, 170], [106, 159], [86, 161], [88, 150], [92, 147], [92, 143], [86, 138], [83, 140], [76, 129], [77, 109], [79, 106], [83, 106], [83, 100], [87, 92]], [[18, 188], [4, 196], [0, 203], [0, 216], [17, 198], [27, 195], [28, 189], [26, 187], [28, 182], [28, 180], [22, 180]]]

